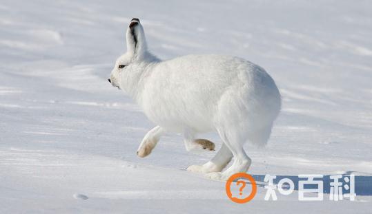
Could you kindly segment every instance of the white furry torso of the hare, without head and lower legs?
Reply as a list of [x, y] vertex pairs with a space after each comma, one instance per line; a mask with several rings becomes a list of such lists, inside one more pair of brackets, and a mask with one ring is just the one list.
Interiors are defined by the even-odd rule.
[[150, 120], [169, 131], [214, 131], [231, 122], [248, 133], [271, 125], [280, 110], [272, 78], [241, 58], [182, 56], [153, 64], [144, 77], [137, 101]]

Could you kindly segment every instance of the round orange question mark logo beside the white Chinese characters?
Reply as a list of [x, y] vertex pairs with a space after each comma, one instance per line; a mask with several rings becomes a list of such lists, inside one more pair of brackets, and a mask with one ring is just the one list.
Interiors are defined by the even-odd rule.
[[[239, 188], [239, 195], [242, 197], [243, 195], [243, 189], [246, 187], [246, 182], [244, 180], [238, 180], [239, 178], [246, 178], [248, 179], [251, 184], [252, 184], [252, 191], [251, 194], [248, 195], [248, 197], [244, 198], [238, 198], [238, 197], [233, 197], [233, 193], [231, 193], [231, 184], [233, 184], [234, 180], [237, 180], [236, 185], [240, 186]], [[236, 202], [238, 204], [244, 204], [246, 202], [249, 202], [250, 200], [255, 197], [257, 193], [257, 184], [253, 177], [251, 175], [248, 175], [247, 173], [236, 173], [231, 175], [230, 178], [228, 178], [226, 182], [226, 194], [228, 198], [230, 198], [233, 202]]]

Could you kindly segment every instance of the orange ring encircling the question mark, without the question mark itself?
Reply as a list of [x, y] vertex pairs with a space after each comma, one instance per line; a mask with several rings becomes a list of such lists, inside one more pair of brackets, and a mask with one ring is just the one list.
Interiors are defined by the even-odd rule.
[[[251, 194], [248, 195], [248, 197], [244, 198], [233, 197], [233, 193], [231, 193], [231, 184], [234, 182], [234, 180], [237, 180], [238, 178], [246, 178], [251, 182], [252, 192]], [[256, 193], [257, 193], [256, 181], [251, 175], [247, 173], [235, 173], [231, 175], [231, 177], [228, 178], [228, 180], [226, 181], [226, 195], [228, 198], [230, 198], [230, 200], [232, 200], [235, 203], [244, 204], [246, 202], [249, 202], [250, 200], [253, 199], [253, 197], [255, 197]]]

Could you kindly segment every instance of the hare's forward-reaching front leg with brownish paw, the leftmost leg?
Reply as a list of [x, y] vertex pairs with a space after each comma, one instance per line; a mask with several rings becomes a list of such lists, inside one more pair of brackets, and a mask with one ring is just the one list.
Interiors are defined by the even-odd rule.
[[166, 130], [159, 126], [154, 127], [153, 129], [148, 131], [148, 133], [146, 133], [146, 136], [142, 140], [141, 145], [139, 145], [138, 147], [137, 156], [141, 158], [148, 156], [156, 146], [160, 137], [164, 135], [165, 132]]

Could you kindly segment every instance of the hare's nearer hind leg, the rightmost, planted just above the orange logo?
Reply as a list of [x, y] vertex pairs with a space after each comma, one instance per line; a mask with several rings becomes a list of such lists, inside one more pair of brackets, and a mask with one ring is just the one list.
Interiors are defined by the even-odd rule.
[[232, 127], [227, 132], [221, 129], [217, 129], [217, 131], [224, 144], [233, 153], [234, 161], [231, 167], [228, 167], [222, 173], [208, 173], [208, 178], [213, 180], [227, 180], [235, 173], [248, 171], [251, 166], [251, 158], [248, 158], [243, 149], [244, 142], [247, 140], [245, 135], [242, 135], [237, 129], [233, 129]]

